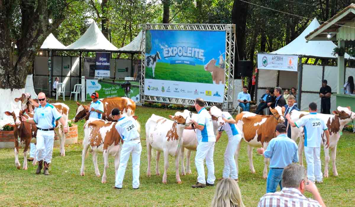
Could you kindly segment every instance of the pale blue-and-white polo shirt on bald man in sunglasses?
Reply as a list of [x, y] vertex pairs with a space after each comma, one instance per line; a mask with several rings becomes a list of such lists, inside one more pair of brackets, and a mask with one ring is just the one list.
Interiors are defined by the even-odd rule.
[[55, 121], [60, 119], [62, 115], [51, 104], [47, 103], [44, 107], [39, 105], [34, 113], [33, 120], [37, 127], [41, 129], [51, 129], [55, 127]]

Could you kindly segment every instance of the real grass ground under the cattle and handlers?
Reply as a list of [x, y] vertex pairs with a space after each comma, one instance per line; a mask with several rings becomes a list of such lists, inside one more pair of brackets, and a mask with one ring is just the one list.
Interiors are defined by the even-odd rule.
[[[75, 102], [65, 102], [70, 110], [70, 118], [75, 115]], [[35, 169], [29, 165], [28, 170], [17, 170], [13, 149], [0, 149], [0, 206], [210, 206], [214, 195], [214, 187], [192, 189], [197, 173], [194, 164], [195, 153], [192, 153], [191, 175], [181, 176], [182, 184], [175, 183], [174, 160], [169, 158], [168, 184], [162, 184], [162, 175], [147, 178], [147, 152], [145, 142], [145, 122], [151, 114], [167, 117], [174, 110], [137, 107], [136, 115], [141, 123], [142, 155], [140, 169], [140, 189], [132, 189], [132, 162], [127, 165], [122, 190], [113, 189], [115, 172], [113, 157], [109, 159], [108, 183], [101, 184], [101, 178], [95, 176], [92, 156], [89, 154], [85, 162], [85, 176], [80, 176], [81, 150], [84, 121], [78, 122], [78, 140], [75, 145], [66, 146], [66, 156], [60, 157], [59, 148], [54, 148], [50, 175], [35, 175]], [[355, 206], [355, 134], [344, 133], [337, 149], [338, 177], [324, 178], [318, 189], [327, 206]], [[215, 176], [220, 178], [223, 170], [223, 154], [227, 144], [223, 134], [215, 145]], [[20, 149], [20, 155], [23, 149]], [[243, 142], [239, 156], [239, 186], [245, 206], [257, 206], [266, 190], [266, 180], [262, 179], [263, 159], [253, 152], [256, 174], [249, 172], [246, 144]], [[304, 158], [304, 156], [303, 156]], [[324, 155], [321, 152], [322, 169]], [[23, 156], [20, 156], [22, 165]], [[304, 160], [305, 163], [305, 160]], [[31, 164], [31, 163], [30, 163]], [[103, 172], [103, 157], [98, 156], [100, 173]], [[155, 167], [155, 153], [152, 158], [152, 173]], [[160, 173], [163, 173], [163, 158], [160, 159]], [[206, 169], [207, 172], [207, 169]], [[311, 197], [306, 193], [307, 197]]]

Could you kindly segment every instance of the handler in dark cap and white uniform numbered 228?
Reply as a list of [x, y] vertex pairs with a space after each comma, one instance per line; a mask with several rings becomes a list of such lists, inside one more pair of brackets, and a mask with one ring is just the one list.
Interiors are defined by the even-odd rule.
[[115, 128], [120, 134], [123, 142], [120, 165], [116, 173], [115, 189], [122, 189], [123, 178], [127, 167], [128, 159], [132, 152], [132, 175], [133, 175], [133, 189], [139, 188], [139, 170], [141, 164], [142, 145], [137, 131], [137, 122], [131, 116], [123, 116], [121, 111], [117, 108], [111, 111], [113, 119], [118, 120]]

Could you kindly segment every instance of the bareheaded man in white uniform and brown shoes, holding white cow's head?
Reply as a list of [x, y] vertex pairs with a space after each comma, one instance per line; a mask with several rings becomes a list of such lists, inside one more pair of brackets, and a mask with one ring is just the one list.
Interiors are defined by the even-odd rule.
[[[204, 100], [197, 98], [195, 100], [195, 109], [198, 112], [198, 120], [193, 121], [193, 125], [196, 127], [197, 135], [197, 152], [195, 157], [195, 165], [197, 169], [197, 183], [192, 185], [195, 187], [206, 187], [206, 185], [213, 186], [214, 180], [214, 163], [213, 163], [213, 151], [216, 137], [213, 132], [212, 117], [208, 111], [204, 108]], [[185, 129], [192, 129], [192, 126], [187, 126]], [[207, 182], [204, 174], [203, 160], [206, 158], [206, 165], [208, 169]]]

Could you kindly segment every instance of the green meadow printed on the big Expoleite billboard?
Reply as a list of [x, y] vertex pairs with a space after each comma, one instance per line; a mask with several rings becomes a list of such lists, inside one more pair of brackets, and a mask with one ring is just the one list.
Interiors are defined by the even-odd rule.
[[167, 81], [182, 81], [195, 83], [213, 83], [211, 72], [204, 70], [203, 65], [185, 65], [174, 64], [170, 65], [165, 62], [157, 62], [154, 70], [154, 78], [151, 67], [146, 67], [146, 78], [167, 80]]

